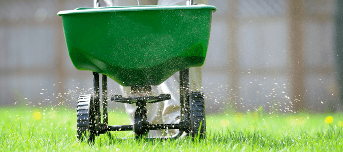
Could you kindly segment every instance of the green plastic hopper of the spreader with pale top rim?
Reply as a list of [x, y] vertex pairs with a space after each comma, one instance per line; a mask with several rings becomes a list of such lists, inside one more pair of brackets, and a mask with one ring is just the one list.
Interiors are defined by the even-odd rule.
[[203, 65], [213, 6], [129, 6], [60, 11], [70, 58], [79, 70], [122, 86], [160, 85]]

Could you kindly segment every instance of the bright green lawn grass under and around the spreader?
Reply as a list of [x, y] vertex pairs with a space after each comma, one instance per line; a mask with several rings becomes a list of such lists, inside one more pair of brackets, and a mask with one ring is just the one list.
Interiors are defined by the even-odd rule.
[[[1, 107], [0, 151], [343, 151], [340, 115], [221, 113], [207, 115], [204, 140], [117, 140], [101, 135], [88, 145], [77, 140], [74, 109]], [[331, 124], [325, 123], [328, 116], [333, 117]], [[125, 112], [111, 111], [109, 124], [129, 124], [129, 119]], [[128, 131], [112, 134], [133, 136]]]

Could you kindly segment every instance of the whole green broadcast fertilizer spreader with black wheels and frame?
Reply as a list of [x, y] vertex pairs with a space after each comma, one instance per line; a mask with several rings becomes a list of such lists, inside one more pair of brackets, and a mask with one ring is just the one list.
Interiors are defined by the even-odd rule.
[[[99, 134], [110, 135], [110, 131], [120, 130], [133, 130], [137, 138], [155, 129], [179, 129], [181, 133], [203, 135], [203, 93], [190, 92], [189, 68], [204, 64], [215, 10], [214, 6], [191, 5], [77, 8], [58, 12], [74, 66], [92, 71], [94, 77], [95, 93], [78, 99], [79, 139], [94, 141]], [[180, 123], [147, 122], [146, 103], [169, 100], [170, 94], [128, 98], [113, 95], [111, 101], [136, 103], [138, 108], [133, 125], [108, 125], [106, 75], [133, 91], [151, 92], [151, 86], [162, 84], [177, 71], [180, 71]], [[103, 122], [99, 73], [102, 74]]]

